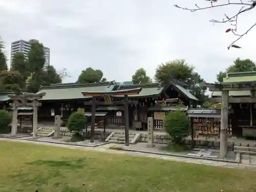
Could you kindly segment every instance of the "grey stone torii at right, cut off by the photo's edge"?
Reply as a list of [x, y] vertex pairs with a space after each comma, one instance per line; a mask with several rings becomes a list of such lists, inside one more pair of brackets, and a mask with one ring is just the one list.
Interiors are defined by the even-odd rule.
[[[201, 87], [209, 91], [221, 92], [221, 130], [220, 130], [220, 158], [227, 156], [227, 131], [228, 131], [228, 103], [256, 102], [256, 81], [202, 83]], [[229, 91], [250, 91], [250, 97], [234, 98], [229, 96]], [[216, 101], [216, 99], [213, 99]]]

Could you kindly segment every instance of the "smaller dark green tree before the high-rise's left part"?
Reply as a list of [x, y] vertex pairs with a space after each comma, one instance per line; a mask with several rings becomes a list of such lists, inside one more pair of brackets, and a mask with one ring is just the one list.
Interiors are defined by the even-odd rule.
[[29, 63], [22, 52], [16, 52], [12, 58], [11, 70], [18, 71], [23, 76], [24, 81], [30, 75]]

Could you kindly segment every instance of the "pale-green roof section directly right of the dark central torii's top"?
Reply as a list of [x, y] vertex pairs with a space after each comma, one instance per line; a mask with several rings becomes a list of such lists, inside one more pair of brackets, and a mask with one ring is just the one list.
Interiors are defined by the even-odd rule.
[[138, 95], [128, 95], [128, 97], [153, 97], [160, 95], [163, 91], [163, 87], [161, 87], [160, 83], [130, 84], [119, 86], [119, 90], [129, 90], [135, 88], [141, 88], [142, 90]]

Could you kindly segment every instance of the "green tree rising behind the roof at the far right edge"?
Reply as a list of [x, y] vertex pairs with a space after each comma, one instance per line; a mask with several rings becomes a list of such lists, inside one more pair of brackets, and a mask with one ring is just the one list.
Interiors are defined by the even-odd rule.
[[234, 60], [233, 65], [230, 65], [225, 72], [220, 72], [217, 74], [217, 80], [223, 82], [223, 78], [226, 77], [226, 73], [235, 73], [235, 72], [249, 72], [256, 71], [255, 63], [250, 59], [240, 59], [237, 58]]

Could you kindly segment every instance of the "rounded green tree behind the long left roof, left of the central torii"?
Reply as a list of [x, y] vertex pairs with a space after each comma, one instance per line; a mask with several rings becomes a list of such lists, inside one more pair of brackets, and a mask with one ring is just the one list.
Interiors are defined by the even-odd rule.
[[[78, 83], [94, 83], [100, 82], [103, 76], [103, 72], [99, 69], [94, 70], [93, 68], [87, 68], [82, 70], [81, 74], [78, 77]], [[103, 78], [104, 79], [104, 78]]]

